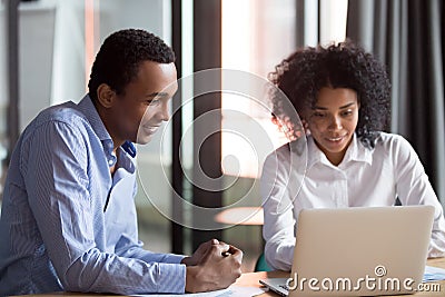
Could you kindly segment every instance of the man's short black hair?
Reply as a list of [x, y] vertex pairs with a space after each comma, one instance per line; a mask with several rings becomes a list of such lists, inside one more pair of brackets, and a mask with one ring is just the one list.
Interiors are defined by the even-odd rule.
[[100, 47], [92, 65], [89, 96], [97, 100], [97, 89], [107, 83], [121, 95], [138, 75], [144, 61], [171, 63], [175, 53], [159, 37], [140, 29], [125, 29], [110, 34]]

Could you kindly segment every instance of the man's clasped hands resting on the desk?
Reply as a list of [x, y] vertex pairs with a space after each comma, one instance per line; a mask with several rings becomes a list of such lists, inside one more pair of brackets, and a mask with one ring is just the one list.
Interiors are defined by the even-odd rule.
[[186, 291], [224, 289], [241, 275], [243, 251], [234, 246], [211, 239], [186, 257]]

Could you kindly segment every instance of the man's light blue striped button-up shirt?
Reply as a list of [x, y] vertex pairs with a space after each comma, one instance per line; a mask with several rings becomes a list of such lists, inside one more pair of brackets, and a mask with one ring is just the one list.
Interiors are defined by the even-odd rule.
[[136, 164], [112, 148], [88, 96], [27, 127], [3, 192], [0, 295], [184, 293], [184, 256], [147, 251], [138, 240]]

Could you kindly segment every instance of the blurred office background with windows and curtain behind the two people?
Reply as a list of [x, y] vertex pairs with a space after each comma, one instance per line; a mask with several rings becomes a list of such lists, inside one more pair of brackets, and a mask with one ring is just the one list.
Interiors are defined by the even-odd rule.
[[[160, 36], [177, 55], [179, 78], [225, 68], [266, 79], [297, 47], [349, 37], [388, 67], [393, 83], [388, 130], [413, 143], [444, 205], [444, 9], [441, 0], [3, 0], [1, 180], [27, 123], [48, 106], [83, 97], [95, 55], [112, 31], [131, 27]], [[243, 126], [255, 119], [275, 147], [286, 140], [254, 105], [239, 103], [225, 93], [207, 95], [207, 105], [185, 103], [186, 97], [186, 90], [179, 90], [172, 100], [171, 109], [178, 112], [165, 133], [138, 148], [141, 240], [156, 251], [189, 254], [207, 238], [222, 238], [244, 249], [244, 270], [253, 270], [263, 247], [260, 226], [220, 225], [210, 231], [182, 226], [214, 218], [197, 218], [178, 198], [212, 208], [260, 205], [260, 161], [251, 159], [255, 154], [228, 132], [197, 143], [200, 127], [194, 122], [218, 110], [216, 130], [225, 130], [227, 122]], [[224, 190], [194, 185], [189, 177], [199, 168], [211, 178], [220, 177]], [[1, 187], [2, 182], [0, 195]]]

